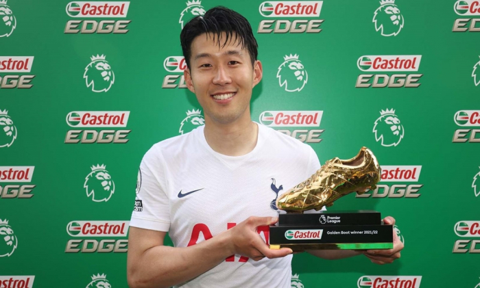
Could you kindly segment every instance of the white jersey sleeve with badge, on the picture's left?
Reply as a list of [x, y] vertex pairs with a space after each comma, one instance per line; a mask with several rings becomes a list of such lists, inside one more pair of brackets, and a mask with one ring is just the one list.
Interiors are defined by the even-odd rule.
[[130, 226], [155, 231], [169, 231], [170, 207], [163, 156], [153, 146], [140, 164], [134, 211]]

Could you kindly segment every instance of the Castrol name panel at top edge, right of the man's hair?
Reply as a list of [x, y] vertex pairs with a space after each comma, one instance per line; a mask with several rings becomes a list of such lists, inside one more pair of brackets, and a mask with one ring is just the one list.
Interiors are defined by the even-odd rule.
[[323, 1], [266, 1], [259, 12], [264, 17], [318, 17]]

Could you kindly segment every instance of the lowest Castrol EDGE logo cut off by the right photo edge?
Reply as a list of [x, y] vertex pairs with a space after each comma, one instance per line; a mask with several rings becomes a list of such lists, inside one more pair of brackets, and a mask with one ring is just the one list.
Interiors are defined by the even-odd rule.
[[453, 253], [480, 253], [480, 220], [459, 221], [453, 226], [453, 231], [458, 237], [473, 239], [459, 239], [453, 245]]

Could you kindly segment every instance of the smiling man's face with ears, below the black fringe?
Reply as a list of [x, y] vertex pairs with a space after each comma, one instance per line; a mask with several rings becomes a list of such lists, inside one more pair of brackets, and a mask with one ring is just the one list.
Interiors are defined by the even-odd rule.
[[247, 49], [231, 38], [223, 46], [225, 37], [223, 33], [219, 46], [212, 34], [197, 36], [191, 44], [191, 67], [184, 71], [187, 87], [197, 96], [206, 122], [220, 124], [250, 120], [252, 89], [262, 78], [261, 63], [257, 60], [252, 67]]

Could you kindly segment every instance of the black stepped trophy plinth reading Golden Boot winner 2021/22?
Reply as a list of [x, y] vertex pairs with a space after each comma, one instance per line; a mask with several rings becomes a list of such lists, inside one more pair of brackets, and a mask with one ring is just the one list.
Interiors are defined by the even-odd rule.
[[270, 225], [270, 248], [363, 250], [394, 248], [393, 225], [377, 211], [321, 211], [278, 215]]

